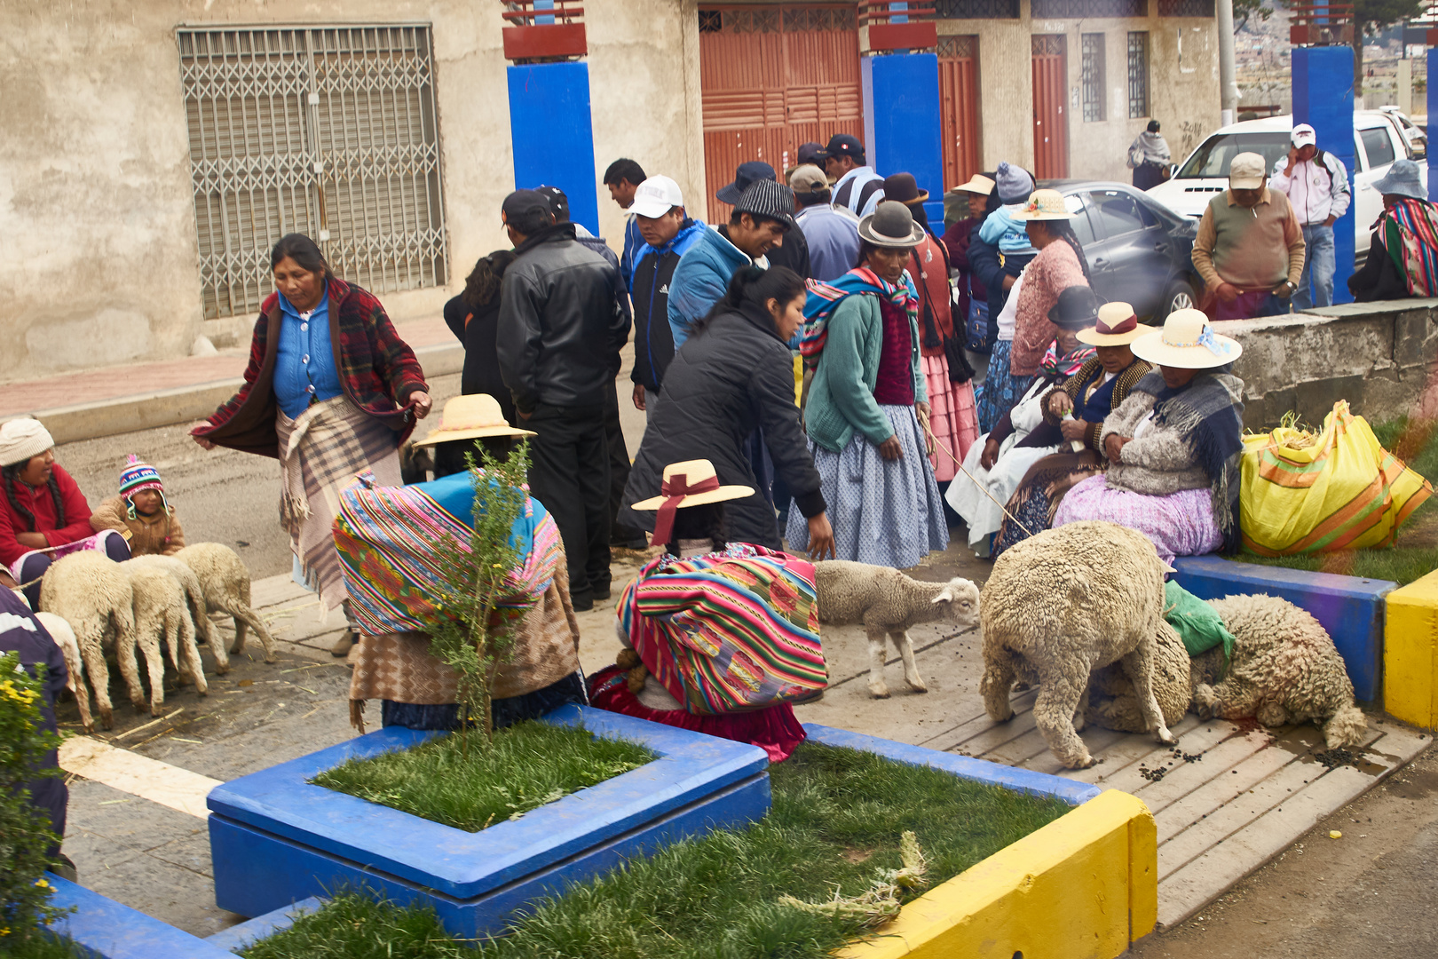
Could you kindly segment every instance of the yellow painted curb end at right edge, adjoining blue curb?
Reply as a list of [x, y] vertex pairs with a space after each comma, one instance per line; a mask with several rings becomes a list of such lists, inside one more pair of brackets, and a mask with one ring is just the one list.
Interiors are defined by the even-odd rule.
[[1383, 709], [1405, 723], [1438, 726], [1438, 572], [1388, 594]]

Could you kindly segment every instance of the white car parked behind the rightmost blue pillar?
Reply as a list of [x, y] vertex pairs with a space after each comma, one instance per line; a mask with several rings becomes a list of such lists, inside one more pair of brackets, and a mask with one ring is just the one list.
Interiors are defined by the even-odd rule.
[[[1224, 127], [1198, 145], [1188, 160], [1178, 165], [1173, 177], [1148, 191], [1159, 203], [1191, 217], [1204, 216], [1204, 208], [1215, 193], [1228, 188], [1228, 164], [1241, 152], [1263, 154], [1270, 173], [1280, 157], [1288, 154], [1293, 116], [1247, 119]], [[1320, 147], [1323, 144], [1319, 144]], [[1412, 148], [1399, 132], [1399, 121], [1383, 111], [1363, 109], [1353, 114], [1353, 234], [1357, 259], [1368, 253], [1373, 221], [1383, 211], [1383, 197], [1373, 190], [1373, 181], [1388, 173], [1399, 157], [1412, 158]], [[1426, 160], [1418, 165], [1428, 173]]]

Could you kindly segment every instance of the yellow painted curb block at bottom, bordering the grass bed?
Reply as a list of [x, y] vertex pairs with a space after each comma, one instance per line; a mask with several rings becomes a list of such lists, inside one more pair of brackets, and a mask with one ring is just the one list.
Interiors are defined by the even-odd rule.
[[1158, 922], [1158, 832], [1109, 789], [903, 907], [848, 959], [1112, 959]]

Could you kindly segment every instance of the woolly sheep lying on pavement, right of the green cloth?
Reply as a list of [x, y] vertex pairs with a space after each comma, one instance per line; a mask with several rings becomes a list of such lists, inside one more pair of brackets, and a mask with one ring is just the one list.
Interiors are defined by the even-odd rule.
[[1252, 716], [1264, 726], [1311, 719], [1322, 723], [1329, 749], [1363, 745], [1368, 719], [1353, 703], [1343, 657], [1313, 615], [1264, 594], [1209, 605], [1234, 634], [1234, 659], [1224, 674], [1222, 647], [1194, 657], [1194, 712], [1204, 719]]

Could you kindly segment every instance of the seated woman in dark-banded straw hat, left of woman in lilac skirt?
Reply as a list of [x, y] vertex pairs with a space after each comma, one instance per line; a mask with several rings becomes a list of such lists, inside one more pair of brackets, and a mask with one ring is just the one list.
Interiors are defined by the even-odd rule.
[[[1089, 292], [1071, 288], [1064, 296], [1074, 289]], [[1008, 516], [994, 543], [995, 559], [1014, 543], [1048, 529], [1064, 495], [1104, 467], [1099, 443], [1103, 424], [1123, 405], [1133, 384], [1152, 370], [1130, 349], [1130, 344], [1148, 332], [1148, 326], [1139, 325], [1133, 306], [1122, 302], [1104, 303], [1099, 308], [1097, 324], [1078, 331], [1076, 339], [1093, 347], [1096, 355], [1040, 400], [1050, 434], [1057, 430], [1063, 440], [1053, 453], [1028, 467], [1009, 497]]]

